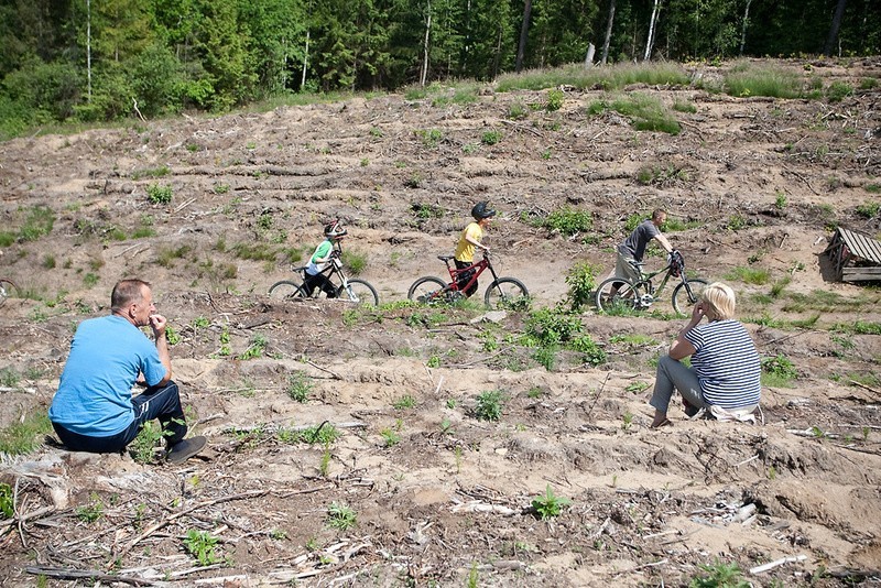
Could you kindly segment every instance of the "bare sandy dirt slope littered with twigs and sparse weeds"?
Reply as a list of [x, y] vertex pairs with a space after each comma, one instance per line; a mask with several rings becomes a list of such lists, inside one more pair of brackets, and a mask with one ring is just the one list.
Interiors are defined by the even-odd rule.
[[[858, 87], [881, 61], [811, 70]], [[45, 411], [76, 324], [140, 276], [180, 335], [174, 378], [210, 447], [178, 467], [51, 445], [3, 457], [17, 513], [0, 522], [0, 582], [686, 586], [719, 564], [753, 586], [881, 582], [881, 337], [857, 328], [881, 323], [881, 293], [836, 282], [823, 255], [835, 226], [881, 231], [858, 211], [879, 202], [881, 90], [836, 104], [629, 91], [695, 111], [671, 135], [588, 117], [600, 89], [567, 89], [547, 111], [546, 92], [487, 88], [470, 104], [359, 97], [4, 143], [4, 230], [35, 206], [56, 218], [0, 257], [28, 295], [0, 307], [0, 369], [23, 374], [0, 392], [0, 425]], [[501, 141], [482, 143], [492, 130]], [[151, 185], [172, 202], [151, 204]], [[605, 276], [627, 218], [665, 208], [694, 227], [667, 233], [689, 273], [730, 283], [760, 353], [797, 378], [763, 388], [761, 424], [687, 421], [675, 405], [674, 426], [652, 431], [653, 364], [683, 325], [666, 302], [586, 309], [608, 361], [561, 351], [548, 370], [518, 342], [523, 313], [278, 301], [267, 291], [291, 262], [248, 254], [305, 259], [340, 217], [360, 277], [381, 303], [404, 301], [416, 277], [443, 276], [436, 255], [480, 199], [500, 211], [487, 237], [499, 273], [535, 307], [564, 301], [578, 262]], [[589, 210], [594, 231], [529, 222], [564, 206]], [[306, 402], [292, 382], [311, 386]], [[499, 421], [475, 417], [487, 391], [501, 392]], [[322, 423], [337, 440], [292, 440]], [[541, 520], [532, 501], [548, 487], [572, 502]], [[333, 504], [355, 525], [333, 526]], [[194, 531], [217, 538], [209, 565], [185, 547]]]

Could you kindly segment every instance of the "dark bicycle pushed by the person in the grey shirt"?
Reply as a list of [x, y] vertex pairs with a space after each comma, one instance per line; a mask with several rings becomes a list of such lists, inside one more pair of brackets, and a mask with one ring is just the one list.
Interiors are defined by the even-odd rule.
[[[679, 316], [686, 316], [687, 311], [700, 298], [700, 292], [708, 285], [706, 280], [685, 274], [685, 259], [675, 250], [670, 254], [667, 264], [657, 271], [644, 273], [643, 262], [632, 262], [632, 265], [639, 273], [639, 280], [632, 282], [623, 277], [609, 277], [603, 281], [594, 296], [597, 308], [606, 314], [617, 311], [645, 311], [661, 300], [664, 286], [671, 279], [675, 279], [679, 283], [673, 288], [673, 311]], [[662, 273], [664, 277], [655, 287], [652, 280]]]

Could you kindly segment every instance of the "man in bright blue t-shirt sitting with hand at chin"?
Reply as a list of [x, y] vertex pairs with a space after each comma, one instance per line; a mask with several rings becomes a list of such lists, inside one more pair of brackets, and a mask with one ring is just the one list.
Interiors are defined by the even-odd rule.
[[[156, 314], [150, 284], [122, 280], [110, 295], [109, 316], [84, 320], [70, 342], [70, 355], [48, 417], [67, 448], [122, 451], [141, 429], [159, 418], [167, 459], [180, 464], [205, 447], [205, 437], [185, 439], [187, 427], [165, 337], [167, 320]], [[141, 331], [150, 326], [151, 341]], [[146, 386], [132, 398], [134, 384]]]

